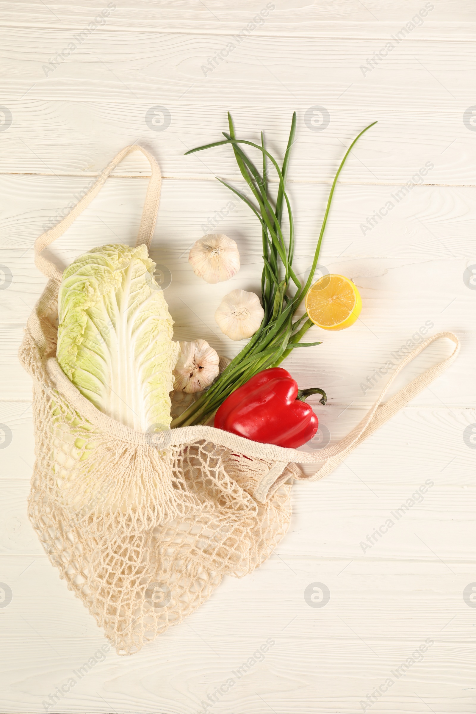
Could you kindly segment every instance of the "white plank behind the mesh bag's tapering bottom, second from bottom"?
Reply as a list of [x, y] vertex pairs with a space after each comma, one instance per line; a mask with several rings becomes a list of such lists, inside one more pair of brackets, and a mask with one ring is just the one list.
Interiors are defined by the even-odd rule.
[[[97, 641], [103, 636], [95, 621], [81, 601], [67, 590], [66, 583], [60, 580], [58, 571], [45, 555], [21, 555], [16, 560], [0, 555], [0, 563], [3, 576], [9, 581], [6, 584], [12, 590], [11, 603], [2, 613], [2, 616], [8, 615], [2, 628], [6, 639], [14, 637], [16, 632], [21, 640], [36, 640], [34, 632], [27, 627], [30, 615], [31, 624], [41, 623], [40, 632], [52, 645], [56, 644], [65, 657], [71, 655], [71, 647], [75, 643], [81, 651], [88, 644], [85, 638], [91, 638], [93, 649], [98, 646]], [[474, 613], [462, 598], [467, 578], [472, 576], [469, 564], [456, 565], [457, 574], [452, 575], [449, 571], [446, 574], [443, 572], [436, 558], [426, 562], [401, 559], [391, 563], [378, 559], [373, 562], [353, 560], [345, 570], [343, 568], [349, 559], [322, 558], [312, 562], [300, 556], [290, 563], [293, 570], [283, 560], [273, 556], [245, 579], [227, 576], [214, 591], [211, 600], [187, 621], [193, 625], [195, 620], [198, 632], [203, 633], [206, 639], [208, 632], [210, 641], [219, 646], [225, 638], [233, 638], [237, 646], [253, 636], [265, 639], [270, 628], [278, 634], [285, 625], [290, 628], [282, 636], [290, 640], [300, 638], [304, 642], [309, 635], [321, 643], [333, 638], [341, 643], [357, 640], [342, 623], [336, 628], [338, 613], [343, 614], [344, 620], [346, 613], [350, 622], [360, 621], [360, 632], [379, 644], [380, 653], [382, 645], [392, 643], [397, 648], [420, 637], [425, 630], [428, 635], [437, 635], [441, 645], [459, 642], [474, 646], [469, 626]], [[329, 603], [321, 612], [319, 608], [310, 608], [303, 597], [305, 588], [313, 582], [312, 578], [316, 578], [314, 582], [323, 578], [322, 582], [331, 590]], [[35, 582], [41, 584], [41, 588], [38, 588], [38, 597], [26, 613], [24, 605]], [[424, 582], [425, 587], [422, 588]], [[247, 611], [247, 600], [255, 601], [255, 613]], [[363, 608], [363, 600], [367, 600], [368, 608]], [[402, 605], [402, 609], [398, 607], [399, 600], [405, 603], [405, 608]], [[266, 610], [267, 602], [267, 616], [260, 617], [260, 613]], [[21, 612], [25, 613], [26, 624], [18, 621]], [[43, 621], [40, 620], [42, 612], [46, 613]], [[236, 613], [234, 618], [230, 617], [231, 612]], [[291, 626], [293, 614], [298, 618]], [[312, 615], [316, 617], [312, 618]], [[318, 618], [318, 615], [325, 616]], [[456, 621], [448, 625], [451, 615], [456, 615]], [[415, 627], [417, 618], [420, 618], [420, 623]], [[384, 629], [385, 621], [387, 627]], [[313, 625], [318, 625], [318, 628], [314, 630]], [[438, 629], [432, 631], [430, 628], [435, 625]], [[443, 629], [444, 625], [448, 625], [447, 628]], [[190, 644], [191, 640], [196, 640], [196, 635], [185, 624], [178, 625], [170, 628], [166, 635], [161, 635], [143, 652], [148, 650], [153, 657], [153, 650], [161, 650], [164, 638], [169, 640], [169, 645]], [[56, 659], [54, 651], [49, 652], [48, 658]], [[115, 655], [112, 658], [116, 658]], [[124, 661], [127, 660], [116, 658], [118, 666]]]

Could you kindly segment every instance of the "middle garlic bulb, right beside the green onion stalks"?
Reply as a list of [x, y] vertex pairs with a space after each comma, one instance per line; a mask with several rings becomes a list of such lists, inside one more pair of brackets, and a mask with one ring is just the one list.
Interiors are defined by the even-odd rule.
[[228, 293], [215, 313], [215, 321], [232, 340], [251, 337], [263, 320], [265, 311], [255, 293], [233, 290]]

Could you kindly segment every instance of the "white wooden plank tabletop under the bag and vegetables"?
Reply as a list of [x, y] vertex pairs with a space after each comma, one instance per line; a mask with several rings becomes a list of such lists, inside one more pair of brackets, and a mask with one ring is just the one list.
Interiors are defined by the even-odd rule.
[[[253, 23], [266, 7], [265, 20]], [[476, 290], [464, 279], [476, 265], [474, 4], [11, 0], [1, 4], [0, 31], [0, 422], [8, 437], [0, 444], [0, 581], [12, 593], [0, 603], [0, 711], [44, 711], [106, 642], [26, 518], [31, 381], [16, 351], [45, 284], [31, 246], [119, 149], [138, 141], [164, 176], [152, 257], [171, 271], [176, 338], [205, 338], [235, 354], [240, 344], [221, 334], [213, 313], [232, 289], [259, 290], [258, 222], [214, 178], [240, 185], [228, 147], [183, 156], [221, 138], [229, 109], [241, 136], [255, 140], [263, 129], [278, 156], [298, 113], [289, 191], [302, 273], [345, 147], [378, 120], [345, 166], [320, 258], [355, 281], [361, 319], [342, 333], [313, 328], [309, 336], [323, 344], [285, 365], [300, 386], [327, 391], [328, 406], [316, 411], [332, 440], [360, 420], [383, 380], [363, 383], [421, 326], [455, 331], [462, 350], [331, 476], [295, 485], [290, 532], [262, 568], [226, 578], [186, 623], [140, 653], [97, 655], [48, 710], [193, 714], [207, 702], [213, 714], [474, 712], [476, 444], [468, 426], [476, 423]], [[208, 64], [229, 44], [223, 61]], [[64, 49], [69, 55], [58, 58]], [[158, 106], [168, 126], [146, 122], [160, 117]], [[313, 114], [316, 106], [325, 111]], [[118, 167], [51, 249], [59, 266], [91, 246], [133, 242], [146, 176], [140, 154]], [[417, 185], [397, 200], [409, 181]], [[233, 210], [211, 222], [228, 201]], [[368, 222], [385, 206], [387, 216]], [[243, 265], [231, 282], [208, 286], [193, 275], [187, 249], [213, 228], [236, 239]], [[428, 350], [396, 388], [450, 348]], [[375, 529], [429, 482], [373, 542]], [[322, 608], [304, 597], [316, 582], [330, 591]], [[233, 675], [268, 638], [274, 645], [263, 661]]]

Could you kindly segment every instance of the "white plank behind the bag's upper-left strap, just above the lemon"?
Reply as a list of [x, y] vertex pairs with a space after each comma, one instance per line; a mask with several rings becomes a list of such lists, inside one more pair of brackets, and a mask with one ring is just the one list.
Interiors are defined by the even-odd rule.
[[[92, 180], [73, 176], [0, 176], [0, 191], [5, 196], [0, 216], [0, 250], [19, 251], [17, 266], [11, 269], [18, 272], [20, 264], [24, 265], [28, 283], [33, 286], [38, 282], [39, 272], [32, 266], [29, 248], [43, 231], [69, 213]], [[61, 256], [66, 266], [92, 246], [108, 241], [132, 245], [141, 220], [146, 185], [146, 178], [106, 181], [101, 193], [51, 251], [61, 255], [61, 251], [71, 248], [70, 254]], [[243, 187], [240, 181], [234, 185]], [[476, 262], [475, 188], [418, 186], [398, 202], [392, 198], [396, 190], [393, 186], [340, 184], [335, 191], [321, 260], [381, 257], [411, 258], [421, 263], [423, 259], [467, 258]], [[296, 232], [295, 259], [304, 271], [312, 262], [328, 191], [327, 185], [289, 186]], [[385, 209], [388, 201], [395, 201], [390, 212], [385, 215], [383, 210], [383, 216], [373, 218], [380, 208]], [[153, 239], [157, 261], [163, 262], [162, 251], [167, 248], [171, 256], [182, 256], [178, 265], [186, 268], [191, 245], [213, 232], [226, 233], [239, 243], [242, 263], [255, 261], [255, 256], [261, 254], [257, 218], [225, 186], [214, 179], [163, 181]], [[9, 261], [13, 256], [14, 253], [2, 252], [0, 260]], [[255, 270], [258, 277], [260, 266]]]

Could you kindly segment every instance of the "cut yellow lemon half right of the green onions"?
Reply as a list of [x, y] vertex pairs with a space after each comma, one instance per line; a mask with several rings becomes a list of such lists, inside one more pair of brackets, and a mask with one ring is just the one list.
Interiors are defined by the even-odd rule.
[[354, 283], [343, 275], [323, 275], [305, 296], [305, 308], [323, 330], [343, 330], [357, 320], [362, 298]]

